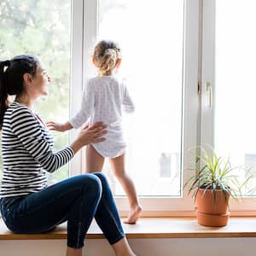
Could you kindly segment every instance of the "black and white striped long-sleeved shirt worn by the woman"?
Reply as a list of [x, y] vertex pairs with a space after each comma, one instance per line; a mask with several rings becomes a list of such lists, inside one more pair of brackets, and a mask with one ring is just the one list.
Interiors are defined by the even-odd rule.
[[73, 149], [53, 152], [53, 137], [32, 111], [18, 102], [3, 118], [3, 179], [0, 197], [28, 195], [47, 186], [55, 172], [73, 158]]

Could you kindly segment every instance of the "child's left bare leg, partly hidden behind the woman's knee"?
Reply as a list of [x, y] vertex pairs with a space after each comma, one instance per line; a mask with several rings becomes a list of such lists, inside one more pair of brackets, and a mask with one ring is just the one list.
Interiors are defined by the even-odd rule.
[[91, 145], [86, 147], [86, 172], [102, 172], [104, 157]]

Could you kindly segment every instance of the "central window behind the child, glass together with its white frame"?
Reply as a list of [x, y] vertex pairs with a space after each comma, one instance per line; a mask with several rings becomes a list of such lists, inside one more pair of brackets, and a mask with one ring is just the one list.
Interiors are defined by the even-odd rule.
[[[137, 106], [125, 116], [127, 170], [146, 214], [191, 209], [182, 189], [191, 155], [182, 152], [197, 144], [198, 11], [180, 0], [84, 2], [84, 80], [96, 74], [97, 41], [113, 39], [122, 49], [119, 74]], [[124, 195], [108, 165], [104, 172], [115, 195]], [[125, 199], [117, 202], [127, 209]]]

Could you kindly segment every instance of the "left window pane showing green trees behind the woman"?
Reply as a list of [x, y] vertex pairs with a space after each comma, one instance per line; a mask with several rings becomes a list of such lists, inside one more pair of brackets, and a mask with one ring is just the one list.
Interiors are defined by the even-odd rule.
[[[34, 54], [44, 61], [52, 83], [49, 96], [38, 102], [44, 120], [65, 120], [69, 109], [71, 0], [3, 0], [0, 2], [0, 60]], [[68, 142], [55, 134], [55, 148]], [[68, 177], [68, 166], [49, 177], [50, 183]]]

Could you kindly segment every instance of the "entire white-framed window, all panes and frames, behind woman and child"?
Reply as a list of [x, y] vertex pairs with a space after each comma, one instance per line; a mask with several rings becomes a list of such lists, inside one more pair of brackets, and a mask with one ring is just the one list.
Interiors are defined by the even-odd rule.
[[[62, 121], [79, 110], [84, 82], [96, 74], [96, 42], [118, 41], [119, 74], [137, 105], [125, 116], [127, 170], [144, 214], [191, 214], [193, 201], [183, 191], [193, 172], [187, 170], [194, 160], [189, 148], [212, 145], [234, 165], [251, 168], [255, 183], [254, 7], [253, 0], [1, 1], [0, 59], [40, 55], [53, 82], [38, 108], [44, 119]], [[70, 132], [72, 140], [77, 132]], [[56, 148], [68, 143], [67, 133], [55, 138]], [[84, 157], [81, 151], [71, 172], [64, 166], [51, 182], [83, 172]], [[104, 170], [119, 210], [127, 210], [124, 191], [108, 165]], [[250, 212], [254, 199], [231, 207]]]

